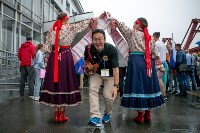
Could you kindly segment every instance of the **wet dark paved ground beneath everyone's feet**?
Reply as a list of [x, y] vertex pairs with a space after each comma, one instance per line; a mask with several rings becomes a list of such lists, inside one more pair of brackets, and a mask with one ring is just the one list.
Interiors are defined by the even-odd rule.
[[[0, 101], [0, 133], [200, 133], [200, 97], [190, 92], [187, 97], [168, 97], [166, 104], [152, 111], [152, 122], [132, 121], [136, 111], [120, 107], [115, 101], [110, 123], [100, 128], [87, 125], [89, 118], [88, 90], [82, 92], [83, 103], [67, 107], [70, 121], [54, 123], [53, 108], [19, 98]], [[103, 98], [100, 98], [103, 113]]]

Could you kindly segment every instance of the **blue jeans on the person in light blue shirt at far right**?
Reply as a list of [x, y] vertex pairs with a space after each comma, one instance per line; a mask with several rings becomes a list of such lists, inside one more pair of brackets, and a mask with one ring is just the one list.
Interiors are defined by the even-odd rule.
[[187, 72], [188, 76], [188, 86], [190, 87], [190, 79], [192, 81], [192, 90], [197, 90], [197, 83], [195, 80], [195, 67], [194, 66], [188, 66], [191, 68], [190, 72]]

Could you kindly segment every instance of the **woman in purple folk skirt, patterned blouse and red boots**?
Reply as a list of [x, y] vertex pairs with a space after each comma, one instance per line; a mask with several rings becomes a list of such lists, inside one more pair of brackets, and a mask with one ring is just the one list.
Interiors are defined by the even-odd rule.
[[89, 24], [90, 20], [69, 24], [67, 14], [62, 12], [47, 33], [45, 51], [51, 54], [39, 101], [54, 107], [55, 122], [68, 121], [65, 106], [81, 103], [70, 45], [76, 34]]

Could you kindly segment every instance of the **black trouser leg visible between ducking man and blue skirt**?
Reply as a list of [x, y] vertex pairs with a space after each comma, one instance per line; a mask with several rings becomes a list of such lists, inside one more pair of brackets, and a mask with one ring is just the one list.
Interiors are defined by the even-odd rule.
[[124, 93], [124, 77], [126, 76], [126, 67], [119, 67], [119, 92], [120, 97]]

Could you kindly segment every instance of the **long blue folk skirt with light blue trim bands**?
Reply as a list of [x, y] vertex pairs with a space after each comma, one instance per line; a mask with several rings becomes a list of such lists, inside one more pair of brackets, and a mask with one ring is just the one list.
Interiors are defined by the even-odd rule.
[[136, 110], [149, 110], [161, 107], [164, 98], [160, 92], [155, 63], [151, 61], [152, 75], [146, 74], [143, 54], [130, 54], [121, 106]]

